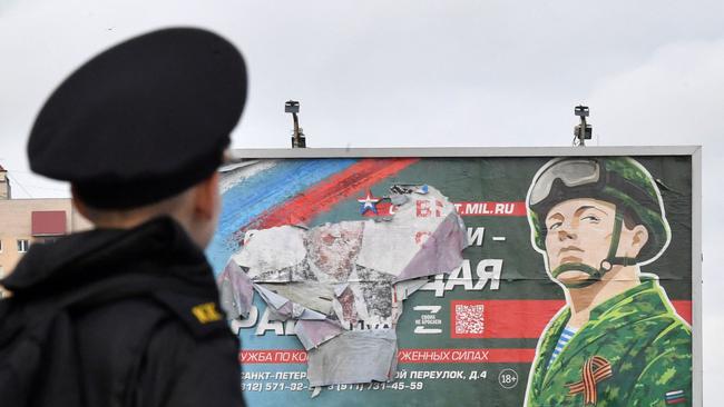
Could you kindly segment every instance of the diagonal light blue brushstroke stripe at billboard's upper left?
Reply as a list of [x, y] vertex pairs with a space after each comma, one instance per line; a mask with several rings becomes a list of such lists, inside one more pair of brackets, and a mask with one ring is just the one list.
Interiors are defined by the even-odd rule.
[[321, 180], [345, 170], [355, 159], [288, 159], [229, 188], [222, 197], [218, 229], [206, 249], [218, 275], [238, 249], [234, 234], [264, 211], [293, 198]]

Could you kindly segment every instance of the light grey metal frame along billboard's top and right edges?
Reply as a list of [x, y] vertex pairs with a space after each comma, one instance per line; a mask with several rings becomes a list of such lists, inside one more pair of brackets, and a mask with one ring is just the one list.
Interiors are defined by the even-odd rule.
[[431, 148], [296, 148], [234, 149], [234, 160], [288, 158], [394, 158], [394, 157], [601, 157], [688, 156], [692, 158], [692, 354], [693, 405], [703, 406], [702, 330], [702, 146], [623, 147], [431, 147]]

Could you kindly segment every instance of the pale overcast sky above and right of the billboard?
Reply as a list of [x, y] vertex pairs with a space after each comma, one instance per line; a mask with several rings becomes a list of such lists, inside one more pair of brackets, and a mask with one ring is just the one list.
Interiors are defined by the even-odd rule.
[[[236, 148], [702, 145], [704, 381], [724, 383], [724, 1], [0, 0], [0, 165], [13, 196], [68, 196], [29, 172], [48, 93], [94, 53], [167, 26], [211, 28], [246, 57]], [[1, 226], [0, 226], [1, 227]]]

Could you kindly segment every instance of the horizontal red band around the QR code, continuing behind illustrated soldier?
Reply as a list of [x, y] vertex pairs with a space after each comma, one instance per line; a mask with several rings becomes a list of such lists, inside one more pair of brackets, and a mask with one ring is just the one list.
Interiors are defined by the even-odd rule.
[[[692, 324], [692, 301], [672, 301], [676, 312]], [[482, 305], [482, 332], [456, 331], [456, 305]], [[566, 305], [562, 300], [453, 300], [450, 302], [450, 335], [453, 338], [539, 338], [550, 319]]]

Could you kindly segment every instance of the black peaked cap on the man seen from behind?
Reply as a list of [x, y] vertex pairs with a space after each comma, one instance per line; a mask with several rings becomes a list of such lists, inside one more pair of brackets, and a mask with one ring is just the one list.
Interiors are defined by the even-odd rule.
[[239, 51], [170, 28], [133, 38], [76, 70], [42, 107], [28, 141], [33, 171], [86, 204], [125, 209], [211, 176], [246, 100]]

